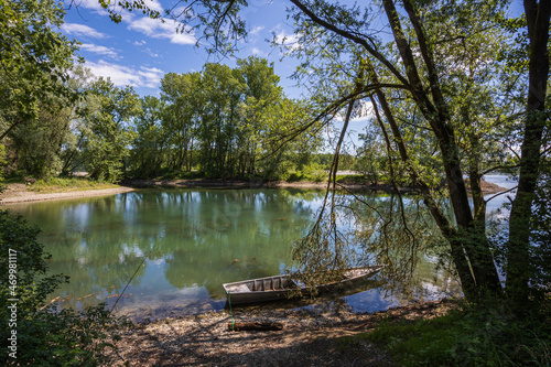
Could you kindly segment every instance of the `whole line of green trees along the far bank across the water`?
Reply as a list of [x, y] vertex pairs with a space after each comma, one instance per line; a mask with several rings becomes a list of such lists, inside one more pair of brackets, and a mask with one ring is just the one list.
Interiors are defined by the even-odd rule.
[[[78, 98], [50, 96], [2, 140], [8, 175], [285, 180], [320, 175], [333, 160], [321, 153], [320, 129], [302, 131], [309, 106], [287, 98], [273, 66], [255, 56], [235, 68], [166, 74], [160, 97], [140, 98], [84, 68], [66, 84]], [[0, 123], [9, 128], [8, 119]], [[353, 170], [354, 161], [343, 155], [341, 169]]]

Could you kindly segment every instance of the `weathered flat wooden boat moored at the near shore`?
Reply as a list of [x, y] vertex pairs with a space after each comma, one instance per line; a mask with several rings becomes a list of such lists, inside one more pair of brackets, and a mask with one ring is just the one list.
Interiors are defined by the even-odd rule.
[[231, 305], [284, 300], [314, 292], [325, 293], [335, 289], [357, 284], [379, 272], [385, 266], [349, 268], [343, 272], [344, 279], [316, 287], [304, 287], [293, 282], [289, 274], [249, 279], [223, 284], [226, 299]]

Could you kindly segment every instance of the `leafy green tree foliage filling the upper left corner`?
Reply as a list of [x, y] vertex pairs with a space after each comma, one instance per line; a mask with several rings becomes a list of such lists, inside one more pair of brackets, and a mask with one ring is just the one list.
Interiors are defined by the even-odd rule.
[[[35, 119], [52, 96], [77, 98], [66, 85], [76, 41], [55, 32], [63, 2], [0, 1], [0, 141], [15, 127]], [[42, 106], [42, 107], [40, 107]]]

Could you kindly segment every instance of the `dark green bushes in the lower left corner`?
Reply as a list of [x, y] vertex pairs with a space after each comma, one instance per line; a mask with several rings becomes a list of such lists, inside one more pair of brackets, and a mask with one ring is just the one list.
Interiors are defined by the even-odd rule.
[[[9, 359], [6, 350], [1, 358], [19, 366], [99, 365], [107, 360], [101, 352], [112, 347], [117, 338], [110, 332], [122, 325], [123, 320], [110, 315], [104, 304], [82, 313], [72, 310], [57, 313], [55, 307], [47, 306], [47, 295], [68, 277], [47, 274], [50, 256], [36, 240], [39, 233], [22, 216], [0, 212], [0, 266], [11, 269], [10, 263], [17, 265], [17, 284], [8, 271], [0, 276], [0, 334], [7, 341], [11, 331], [17, 331], [17, 359]], [[17, 256], [9, 256], [13, 251]], [[14, 261], [9, 262], [10, 259]], [[17, 320], [8, 309], [13, 303]]]

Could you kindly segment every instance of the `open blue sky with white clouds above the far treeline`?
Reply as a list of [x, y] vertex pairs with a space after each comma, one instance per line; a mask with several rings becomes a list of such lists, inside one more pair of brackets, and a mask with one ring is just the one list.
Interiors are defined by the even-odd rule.
[[[159, 0], [147, 3], [161, 12], [173, 4]], [[176, 24], [171, 20], [163, 23], [138, 12], [122, 12], [122, 22], [116, 24], [97, 0], [77, 0], [76, 4], [67, 10], [62, 32], [82, 42], [79, 54], [85, 57], [86, 67], [96, 76], [110, 77], [117, 86], [133, 86], [141, 96], [158, 95], [159, 80], [166, 73], [201, 71], [207, 62], [235, 65], [235, 60], [208, 56], [195, 47], [193, 32], [176, 33]], [[300, 90], [288, 79], [295, 62], [280, 62], [280, 50], [266, 41], [272, 39], [272, 32], [292, 41], [292, 30], [285, 24], [285, 2], [253, 0], [244, 15], [249, 23], [249, 42], [241, 45], [238, 56], [257, 55], [274, 62], [288, 96], [299, 97]]]

